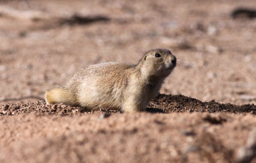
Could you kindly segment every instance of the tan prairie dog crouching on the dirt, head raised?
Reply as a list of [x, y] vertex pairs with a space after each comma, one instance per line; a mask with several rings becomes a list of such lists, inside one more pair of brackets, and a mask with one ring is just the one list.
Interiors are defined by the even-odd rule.
[[65, 86], [47, 90], [45, 101], [91, 110], [144, 111], [175, 66], [176, 57], [169, 50], [156, 49], [136, 65], [107, 62], [83, 67]]

